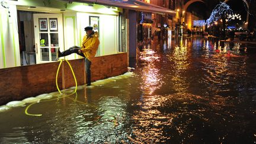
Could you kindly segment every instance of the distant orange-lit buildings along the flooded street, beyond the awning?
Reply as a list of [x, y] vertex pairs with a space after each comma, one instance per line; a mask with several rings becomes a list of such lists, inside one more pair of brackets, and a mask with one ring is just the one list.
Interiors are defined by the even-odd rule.
[[[200, 0], [141, 0], [159, 7], [164, 7], [175, 11], [175, 14], [155, 14], [154, 12], [141, 12], [139, 19], [141, 20], [138, 27], [139, 40], [149, 39], [151, 36], [158, 36], [159, 39], [167, 37], [168, 34], [172, 36], [180, 36], [189, 29], [191, 31], [203, 31], [204, 25], [200, 25], [203, 20], [203, 15], [199, 14], [193, 9], [188, 11], [188, 7], [194, 2], [204, 1]], [[144, 17], [144, 20], [143, 20]], [[152, 21], [151, 21], [152, 20]], [[196, 23], [195, 23], [196, 22]], [[169, 32], [168, 32], [169, 31]]]

